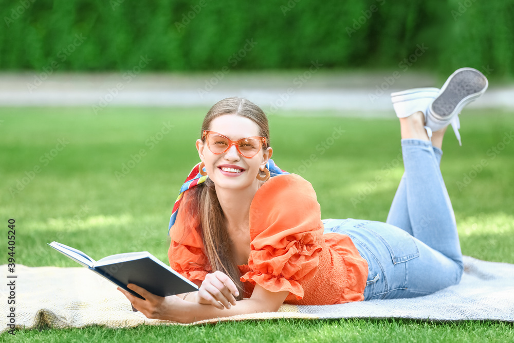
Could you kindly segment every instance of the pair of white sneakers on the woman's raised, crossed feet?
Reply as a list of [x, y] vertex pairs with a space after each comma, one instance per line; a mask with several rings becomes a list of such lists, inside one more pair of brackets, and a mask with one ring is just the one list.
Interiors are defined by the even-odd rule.
[[398, 118], [405, 118], [415, 112], [425, 114], [425, 129], [428, 136], [432, 131], [452, 125], [458, 143], [462, 146], [458, 133], [458, 114], [465, 105], [480, 97], [488, 86], [487, 78], [473, 68], [460, 68], [450, 75], [441, 89], [413, 88], [391, 94], [393, 107]]

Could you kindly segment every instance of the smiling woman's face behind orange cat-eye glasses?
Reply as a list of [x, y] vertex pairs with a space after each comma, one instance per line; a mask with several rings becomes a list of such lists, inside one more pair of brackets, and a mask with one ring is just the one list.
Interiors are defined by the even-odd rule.
[[[209, 131], [227, 136], [231, 140], [259, 136], [259, 127], [246, 117], [226, 114], [216, 117], [211, 122]], [[196, 149], [200, 159], [205, 163], [207, 175], [216, 185], [216, 188], [245, 189], [256, 187], [259, 170], [264, 170], [272, 150], [261, 148], [259, 153], [251, 158], [241, 155], [234, 145], [221, 154], [214, 154], [207, 147], [207, 143], [198, 139]], [[235, 171], [234, 171], [235, 170]]]

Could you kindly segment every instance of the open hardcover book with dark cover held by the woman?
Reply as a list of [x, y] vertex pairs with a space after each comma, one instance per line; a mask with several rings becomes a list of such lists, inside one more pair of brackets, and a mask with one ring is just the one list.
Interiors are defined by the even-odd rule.
[[48, 245], [139, 298], [142, 297], [128, 289], [127, 284], [134, 283], [161, 297], [198, 291], [194, 283], [148, 251], [127, 252], [95, 261], [82, 251], [67, 245], [58, 242]]

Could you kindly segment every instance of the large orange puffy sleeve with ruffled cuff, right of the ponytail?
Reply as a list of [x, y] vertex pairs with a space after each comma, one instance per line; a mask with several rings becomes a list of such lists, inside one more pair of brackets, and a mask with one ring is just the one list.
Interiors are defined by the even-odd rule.
[[300, 300], [301, 282], [318, 271], [323, 242], [320, 205], [312, 185], [296, 174], [270, 178], [250, 206], [251, 269], [241, 281]]

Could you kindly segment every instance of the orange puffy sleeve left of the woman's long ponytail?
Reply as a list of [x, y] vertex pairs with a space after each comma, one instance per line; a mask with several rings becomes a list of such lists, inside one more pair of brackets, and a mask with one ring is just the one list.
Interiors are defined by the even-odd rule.
[[175, 224], [170, 229], [170, 266], [185, 278], [198, 284], [210, 273], [204, 244], [197, 230], [199, 221], [191, 211], [189, 191], [184, 193]]

